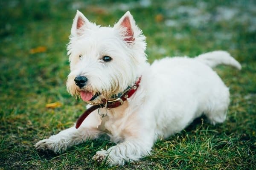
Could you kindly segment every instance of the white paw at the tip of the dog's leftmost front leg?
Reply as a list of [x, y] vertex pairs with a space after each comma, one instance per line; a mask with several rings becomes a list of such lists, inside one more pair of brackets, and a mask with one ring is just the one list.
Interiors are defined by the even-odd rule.
[[56, 142], [51, 139], [43, 139], [35, 144], [35, 148], [37, 150], [51, 150], [54, 153], [60, 153], [65, 151], [67, 147], [65, 147], [61, 142]]

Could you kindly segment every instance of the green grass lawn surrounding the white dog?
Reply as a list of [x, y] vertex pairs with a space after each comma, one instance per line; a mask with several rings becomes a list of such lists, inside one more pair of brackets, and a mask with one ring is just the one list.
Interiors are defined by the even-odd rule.
[[[149, 3], [148, 3], [149, 2]], [[256, 169], [256, 3], [208, 1], [0, 1], [0, 170], [108, 169], [91, 160], [113, 143], [86, 141], [38, 153], [38, 140], [70, 127], [85, 104], [66, 91], [66, 51], [76, 9], [102, 26], [130, 10], [147, 37], [148, 61], [229, 51], [243, 69], [215, 68], [230, 87], [227, 121], [204, 117], [154, 144], [150, 156], [110, 169]], [[46, 108], [60, 102], [61, 107]]]

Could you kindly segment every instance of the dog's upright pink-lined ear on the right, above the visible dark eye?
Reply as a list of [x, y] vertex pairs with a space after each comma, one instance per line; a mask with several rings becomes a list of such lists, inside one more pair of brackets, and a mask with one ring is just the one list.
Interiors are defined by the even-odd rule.
[[131, 15], [130, 11], [127, 11], [120, 20], [115, 24], [114, 28], [123, 29], [122, 36], [126, 42], [133, 42], [134, 37], [134, 28], [137, 28], [134, 18]]

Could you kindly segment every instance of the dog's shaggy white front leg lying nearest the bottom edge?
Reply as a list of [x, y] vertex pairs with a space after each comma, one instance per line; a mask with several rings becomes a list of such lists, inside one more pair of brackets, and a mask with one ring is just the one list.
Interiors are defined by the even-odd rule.
[[[142, 137], [142, 136], [141, 136]], [[143, 136], [145, 137], [145, 136]], [[125, 161], [137, 161], [142, 156], [148, 155], [153, 146], [154, 139], [129, 139], [108, 150], [101, 149], [93, 156], [93, 160], [102, 162], [106, 160], [109, 166], [124, 165]]]

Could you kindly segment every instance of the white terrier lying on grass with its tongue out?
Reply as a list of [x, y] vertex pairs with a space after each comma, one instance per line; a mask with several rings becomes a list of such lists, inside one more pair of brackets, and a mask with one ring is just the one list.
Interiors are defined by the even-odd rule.
[[82, 116], [80, 127], [35, 147], [57, 153], [107, 134], [116, 145], [96, 152], [93, 159], [123, 165], [148, 155], [157, 139], [180, 132], [202, 114], [213, 125], [224, 122], [229, 89], [212, 67], [241, 69], [239, 62], [225, 51], [213, 51], [149, 65], [145, 49], [145, 36], [129, 11], [113, 27], [90, 23], [77, 11], [68, 45], [67, 90], [96, 107], [88, 107], [89, 113], [94, 111], [86, 119]]

